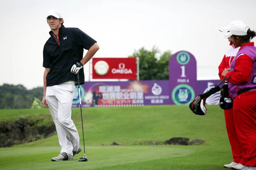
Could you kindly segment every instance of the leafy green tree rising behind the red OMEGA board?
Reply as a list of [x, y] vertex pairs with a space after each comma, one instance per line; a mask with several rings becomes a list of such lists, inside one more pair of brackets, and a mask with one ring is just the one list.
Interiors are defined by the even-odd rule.
[[[160, 56], [160, 57], [157, 57]], [[169, 59], [171, 51], [160, 51], [155, 46], [151, 51], [144, 47], [135, 50], [131, 57], [139, 57], [140, 80], [165, 80], [169, 79]]]

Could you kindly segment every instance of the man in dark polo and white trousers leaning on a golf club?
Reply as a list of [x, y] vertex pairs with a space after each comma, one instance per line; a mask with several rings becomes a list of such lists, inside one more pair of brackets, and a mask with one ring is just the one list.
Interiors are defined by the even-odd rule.
[[[52, 161], [73, 160], [81, 151], [79, 134], [71, 119], [73, 95], [78, 81], [84, 84], [83, 66], [94, 56], [99, 46], [79, 28], [65, 28], [61, 13], [49, 10], [47, 23], [50, 37], [44, 45], [44, 95], [42, 104], [49, 108], [61, 146]], [[84, 49], [88, 50], [83, 57]], [[79, 80], [75, 74], [79, 74]]]

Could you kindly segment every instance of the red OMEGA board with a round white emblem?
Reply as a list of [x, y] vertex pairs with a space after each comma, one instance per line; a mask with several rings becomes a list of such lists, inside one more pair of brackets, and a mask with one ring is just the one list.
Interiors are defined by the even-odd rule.
[[136, 58], [93, 58], [93, 79], [137, 79]]

